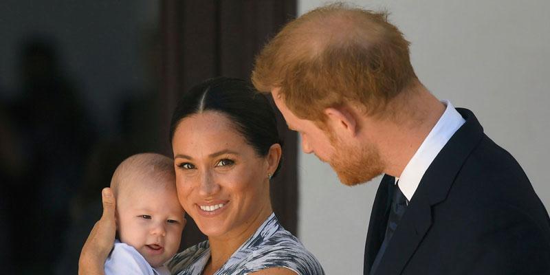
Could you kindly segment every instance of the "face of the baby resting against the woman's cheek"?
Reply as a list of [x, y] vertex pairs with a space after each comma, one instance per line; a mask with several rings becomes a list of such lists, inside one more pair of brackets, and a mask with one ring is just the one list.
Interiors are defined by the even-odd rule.
[[133, 246], [158, 267], [177, 252], [184, 229], [184, 210], [175, 188], [139, 188], [118, 194], [117, 225], [120, 241]]

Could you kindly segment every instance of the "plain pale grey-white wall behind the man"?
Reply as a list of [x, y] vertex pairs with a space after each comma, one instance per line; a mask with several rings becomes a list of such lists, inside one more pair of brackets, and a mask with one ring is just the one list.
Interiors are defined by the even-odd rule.
[[[298, 14], [323, 1], [298, 0]], [[412, 65], [432, 94], [467, 107], [522, 165], [550, 209], [550, 1], [354, 1], [384, 8], [412, 43]], [[362, 274], [364, 241], [380, 179], [339, 183], [300, 153], [298, 236], [327, 274]]]

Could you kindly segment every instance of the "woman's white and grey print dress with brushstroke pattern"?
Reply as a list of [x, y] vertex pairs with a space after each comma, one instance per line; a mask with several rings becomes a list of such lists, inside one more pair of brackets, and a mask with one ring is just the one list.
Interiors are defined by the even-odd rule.
[[[168, 263], [171, 274], [199, 275], [210, 259], [210, 245], [203, 241]], [[315, 256], [279, 224], [271, 214], [214, 275], [249, 274], [270, 267], [285, 267], [299, 275], [323, 275]]]

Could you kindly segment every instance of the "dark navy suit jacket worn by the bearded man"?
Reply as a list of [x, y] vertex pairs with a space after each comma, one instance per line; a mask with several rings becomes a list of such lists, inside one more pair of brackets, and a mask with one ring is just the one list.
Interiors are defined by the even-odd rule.
[[[529, 179], [471, 111], [457, 110], [466, 122], [423, 175], [376, 275], [550, 274], [550, 219]], [[364, 274], [384, 240], [393, 183], [385, 175], [376, 194]]]

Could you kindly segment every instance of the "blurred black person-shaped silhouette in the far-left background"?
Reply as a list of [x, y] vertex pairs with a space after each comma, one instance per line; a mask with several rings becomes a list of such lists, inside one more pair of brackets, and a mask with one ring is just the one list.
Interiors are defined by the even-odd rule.
[[9, 156], [1, 165], [9, 194], [3, 230], [11, 241], [5, 250], [15, 271], [42, 272], [61, 250], [94, 126], [50, 39], [25, 41], [17, 72], [19, 97], [3, 104], [9, 125], [2, 139]]

